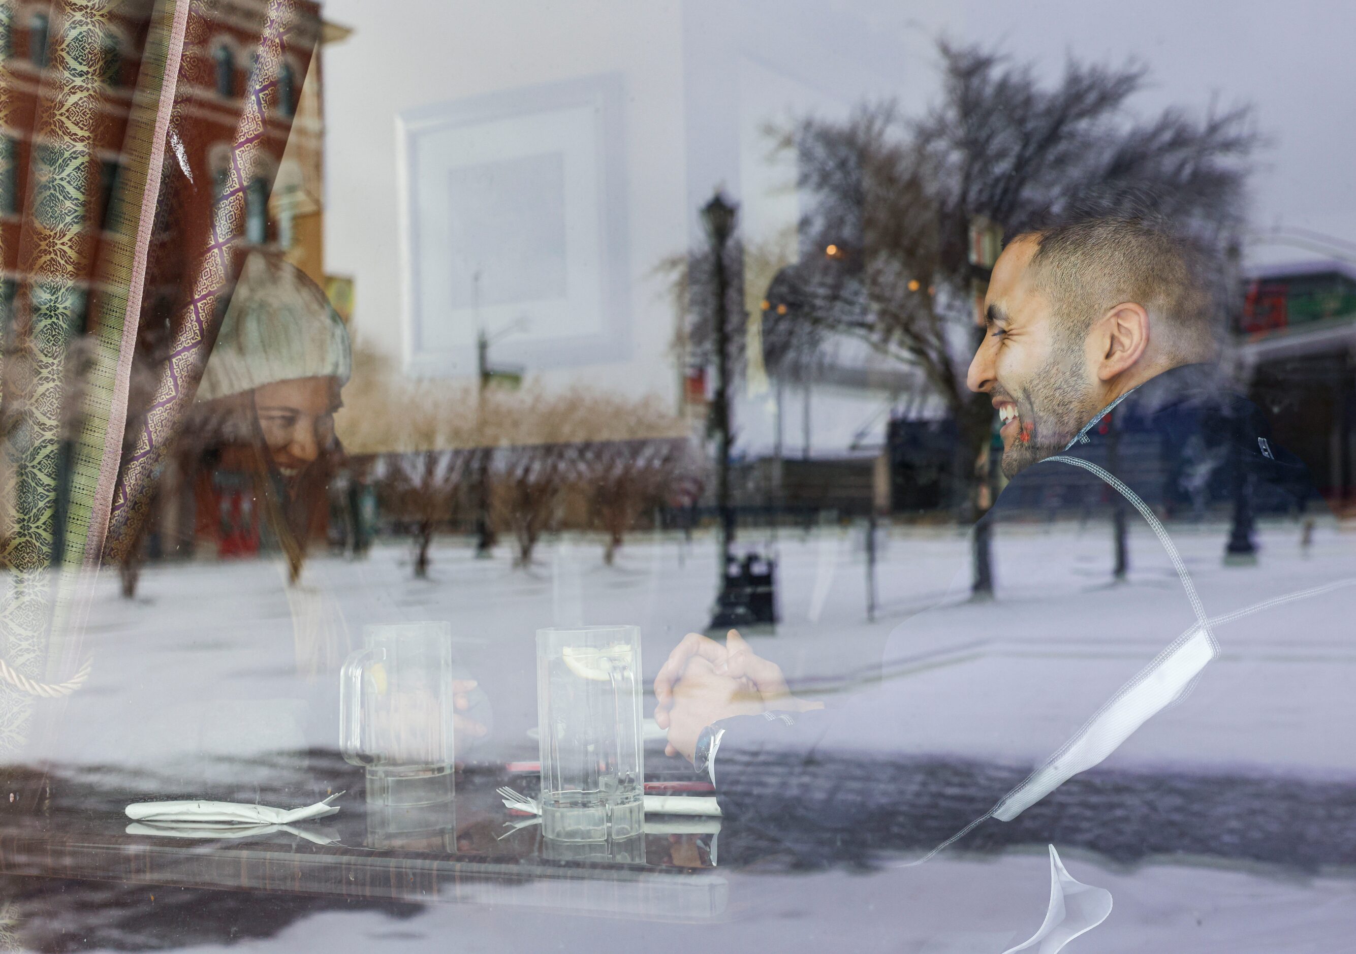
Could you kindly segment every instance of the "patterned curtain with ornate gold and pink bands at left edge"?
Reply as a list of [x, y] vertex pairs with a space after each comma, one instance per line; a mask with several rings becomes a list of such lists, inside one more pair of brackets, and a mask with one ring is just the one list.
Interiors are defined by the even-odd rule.
[[0, 756], [94, 664], [319, 34], [304, 0], [0, 0]]

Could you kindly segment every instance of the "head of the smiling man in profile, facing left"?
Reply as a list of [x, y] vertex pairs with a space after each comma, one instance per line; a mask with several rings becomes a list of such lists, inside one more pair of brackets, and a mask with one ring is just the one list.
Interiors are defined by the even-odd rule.
[[1204, 271], [1191, 243], [1139, 220], [1085, 220], [1003, 249], [965, 383], [993, 396], [1006, 477], [1150, 378], [1211, 358]]

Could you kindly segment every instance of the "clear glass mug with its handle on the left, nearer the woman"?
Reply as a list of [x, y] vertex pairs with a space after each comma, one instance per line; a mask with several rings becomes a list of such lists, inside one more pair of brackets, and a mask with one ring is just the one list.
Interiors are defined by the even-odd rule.
[[452, 801], [452, 623], [366, 626], [362, 640], [340, 673], [339, 751], [367, 770], [369, 812]]

